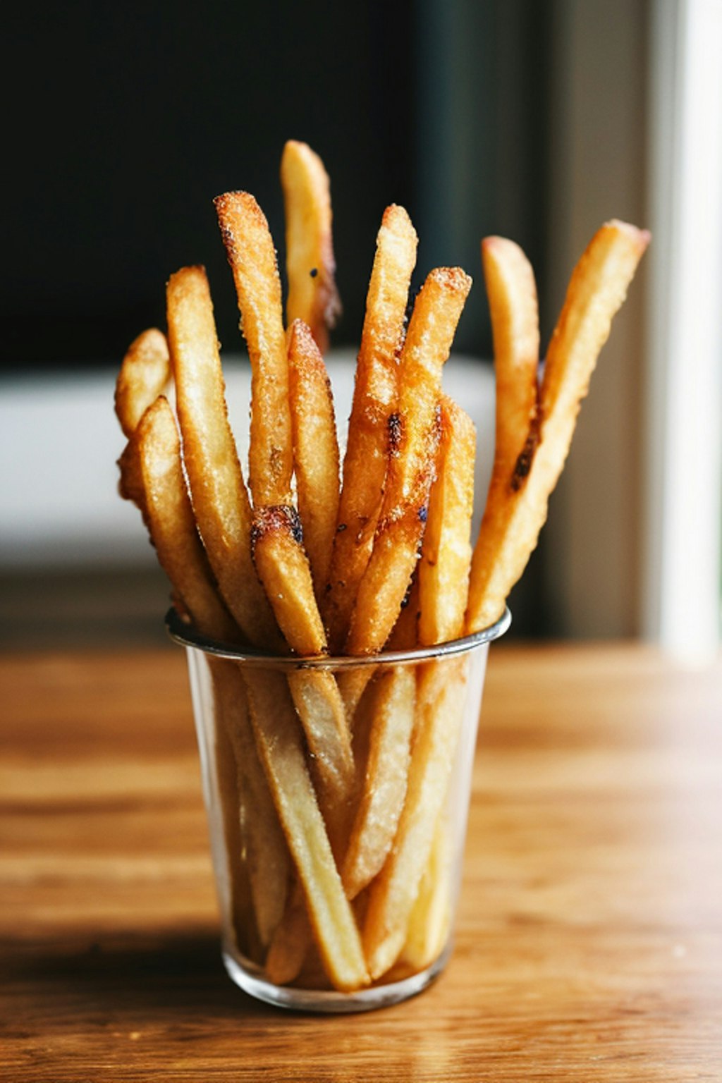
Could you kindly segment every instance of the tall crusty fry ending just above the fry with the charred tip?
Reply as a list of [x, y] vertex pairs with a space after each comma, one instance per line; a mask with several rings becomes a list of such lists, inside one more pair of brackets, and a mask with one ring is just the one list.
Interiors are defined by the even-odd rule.
[[251, 361], [249, 487], [253, 507], [290, 504], [293, 449], [288, 361], [273, 238], [263, 211], [248, 192], [226, 192], [213, 201]]

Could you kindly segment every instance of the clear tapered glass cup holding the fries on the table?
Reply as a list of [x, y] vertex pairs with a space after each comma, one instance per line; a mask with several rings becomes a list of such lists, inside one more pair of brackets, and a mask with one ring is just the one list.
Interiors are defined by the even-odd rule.
[[[489, 628], [370, 657], [186, 648], [223, 961], [251, 995], [359, 1012], [450, 952]], [[349, 721], [350, 720], [350, 721]]]

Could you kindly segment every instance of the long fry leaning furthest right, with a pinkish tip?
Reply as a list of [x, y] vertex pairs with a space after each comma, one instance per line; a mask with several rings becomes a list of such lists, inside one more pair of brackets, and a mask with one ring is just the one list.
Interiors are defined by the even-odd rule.
[[[574, 270], [547, 354], [538, 425], [533, 422], [516, 461], [506, 477], [497, 475], [489, 494], [493, 503], [472, 561], [469, 631], [486, 627], [503, 612], [537, 544], [596, 358], [648, 243], [645, 231], [607, 222]], [[511, 287], [504, 279], [491, 288]], [[510, 305], [511, 297], [503, 303]], [[491, 311], [494, 315], [494, 306]]]

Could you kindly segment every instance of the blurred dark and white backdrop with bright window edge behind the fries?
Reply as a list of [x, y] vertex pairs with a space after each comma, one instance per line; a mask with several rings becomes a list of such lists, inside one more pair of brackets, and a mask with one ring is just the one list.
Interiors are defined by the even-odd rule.
[[4, 649], [165, 641], [167, 586], [115, 493], [115, 376], [139, 331], [165, 326], [169, 274], [205, 263], [242, 402], [211, 199], [251, 191], [283, 264], [289, 138], [331, 177], [339, 382], [381, 213], [402, 203], [419, 279], [457, 263], [475, 278], [449, 378], [474, 404], [487, 458], [480, 239], [504, 234], [526, 250], [546, 342], [596, 227], [616, 217], [653, 230], [512, 596], [514, 635], [644, 637], [691, 658], [718, 648], [719, 0], [67, 0], [15, 4], [5, 24]]

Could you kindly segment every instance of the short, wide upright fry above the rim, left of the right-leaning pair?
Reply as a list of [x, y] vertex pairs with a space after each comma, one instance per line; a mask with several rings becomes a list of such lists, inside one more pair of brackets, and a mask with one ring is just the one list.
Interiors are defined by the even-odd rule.
[[476, 432], [469, 415], [447, 395], [441, 407], [436, 479], [418, 570], [419, 642], [424, 647], [462, 635], [471, 563]]

